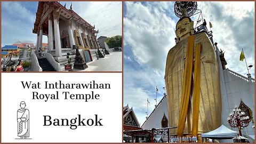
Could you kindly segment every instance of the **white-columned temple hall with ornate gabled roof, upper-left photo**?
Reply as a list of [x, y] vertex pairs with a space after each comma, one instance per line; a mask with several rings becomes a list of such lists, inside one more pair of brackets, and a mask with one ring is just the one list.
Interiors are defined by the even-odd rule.
[[[85, 62], [93, 61], [95, 52], [100, 49], [96, 39], [98, 32], [95, 26], [72, 10], [72, 4], [67, 9], [66, 4], [62, 6], [59, 2], [38, 2], [33, 28], [33, 33], [37, 34], [35, 55], [39, 58], [38, 51], [43, 47], [43, 35], [47, 36], [45, 55], [55, 70], [62, 71], [60, 66], [67, 63], [67, 53], [74, 62], [76, 47]], [[33, 61], [32, 58], [32, 63]], [[39, 69], [32, 69], [37, 70]]]

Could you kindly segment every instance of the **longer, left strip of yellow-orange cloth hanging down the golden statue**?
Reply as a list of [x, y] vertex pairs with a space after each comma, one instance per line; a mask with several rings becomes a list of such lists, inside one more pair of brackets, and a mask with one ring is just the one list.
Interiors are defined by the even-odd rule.
[[194, 55], [194, 41], [195, 36], [191, 35], [188, 37], [188, 48], [186, 51], [185, 69], [183, 71], [183, 83], [180, 101], [180, 114], [177, 135], [182, 135], [185, 127], [189, 97], [191, 90], [191, 76], [193, 70], [193, 55]]

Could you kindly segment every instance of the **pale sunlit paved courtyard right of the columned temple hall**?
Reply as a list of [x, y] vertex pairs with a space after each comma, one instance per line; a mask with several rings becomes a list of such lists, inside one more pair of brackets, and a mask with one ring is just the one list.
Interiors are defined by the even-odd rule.
[[73, 71], [122, 71], [122, 52], [110, 52], [105, 58], [87, 62], [85, 70], [73, 69]]

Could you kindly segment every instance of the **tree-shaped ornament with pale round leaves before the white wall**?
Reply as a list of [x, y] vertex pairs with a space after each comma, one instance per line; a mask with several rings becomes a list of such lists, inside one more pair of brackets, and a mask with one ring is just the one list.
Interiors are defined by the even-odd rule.
[[245, 116], [245, 113], [235, 106], [233, 112], [229, 114], [228, 124], [237, 127], [239, 135], [242, 136], [241, 128], [249, 125], [249, 116]]

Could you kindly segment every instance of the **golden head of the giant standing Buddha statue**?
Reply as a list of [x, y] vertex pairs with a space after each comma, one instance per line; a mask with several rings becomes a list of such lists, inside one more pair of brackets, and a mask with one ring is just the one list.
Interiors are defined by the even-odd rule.
[[177, 36], [177, 41], [181, 41], [182, 39], [194, 35], [194, 21], [192, 21], [189, 17], [183, 16], [177, 22], [175, 34]]

